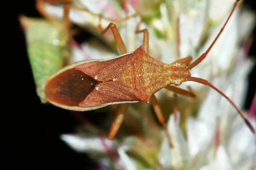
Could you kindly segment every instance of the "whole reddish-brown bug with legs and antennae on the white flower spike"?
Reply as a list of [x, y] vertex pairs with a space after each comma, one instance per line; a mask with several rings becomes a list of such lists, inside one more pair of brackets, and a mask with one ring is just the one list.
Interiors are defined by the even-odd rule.
[[[48, 101], [53, 105], [73, 111], [89, 111], [108, 105], [125, 103], [119, 109], [117, 117], [112, 123], [108, 135], [108, 139], [112, 140], [124, 119], [128, 107], [127, 103], [143, 102], [148, 104], [151, 99], [157, 118], [165, 128], [169, 145], [172, 147], [162, 111], [154, 94], [162, 88], [168, 89], [171, 84], [178, 86], [182, 82], [193, 81], [208, 85], [224, 96], [236, 108], [241, 118], [244, 119], [244, 122], [255, 135], [253, 126], [225, 94], [207, 80], [191, 77], [189, 73], [189, 70], [207, 57], [207, 54], [227, 25], [238, 2], [239, 0], [234, 4], [224, 26], [207, 51], [191, 64], [189, 62], [191, 62], [192, 57], [179, 59], [171, 64], [166, 64], [150, 57], [148, 55], [148, 30], [139, 30], [140, 23], [137, 25], [136, 34], [143, 33], [143, 45], [130, 53], [127, 53], [115, 24], [110, 23], [105, 29], [102, 29], [99, 25], [102, 34], [111, 29], [122, 55], [109, 59], [84, 60], [61, 69], [47, 81], [45, 95]], [[72, 8], [72, 6], [70, 7]], [[169, 90], [185, 96], [193, 96], [192, 92], [180, 91], [179, 88]]]

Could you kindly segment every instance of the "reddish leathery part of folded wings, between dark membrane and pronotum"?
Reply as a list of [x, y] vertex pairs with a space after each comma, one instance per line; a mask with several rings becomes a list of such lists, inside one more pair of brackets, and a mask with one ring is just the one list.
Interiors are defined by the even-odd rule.
[[[88, 62], [76, 66], [76, 70], [101, 81], [79, 104], [80, 107], [97, 106], [113, 102], [137, 102], [134, 88], [122, 81], [121, 73], [130, 70], [134, 56], [125, 54], [105, 61]], [[131, 81], [131, 77], [128, 78]]]

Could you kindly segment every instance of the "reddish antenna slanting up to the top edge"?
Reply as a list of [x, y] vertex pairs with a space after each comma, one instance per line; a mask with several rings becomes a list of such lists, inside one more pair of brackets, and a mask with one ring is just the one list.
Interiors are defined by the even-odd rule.
[[201, 61], [204, 60], [204, 58], [207, 56], [207, 54], [209, 53], [209, 51], [212, 49], [212, 46], [215, 44], [215, 42], [218, 40], [218, 37], [221, 35], [222, 31], [224, 30], [225, 26], [227, 25], [227, 22], [230, 20], [230, 17], [232, 16], [233, 12], [236, 9], [237, 3], [239, 2], [239, 0], [236, 0], [236, 3], [233, 6], [232, 11], [230, 12], [230, 15], [228, 16], [226, 22], [224, 23], [224, 26], [221, 28], [221, 30], [219, 31], [218, 35], [215, 37], [214, 41], [212, 42], [212, 44], [209, 46], [209, 48], [207, 49], [207, 51], [205, 51], [204, 54], [202, 54], [200, 57], [198, 57], [198, 59], [196, 59], [194, 62], [192, 62], [188, 68], [189, 70], [194, 68], [195, 66], [197, 66]]

